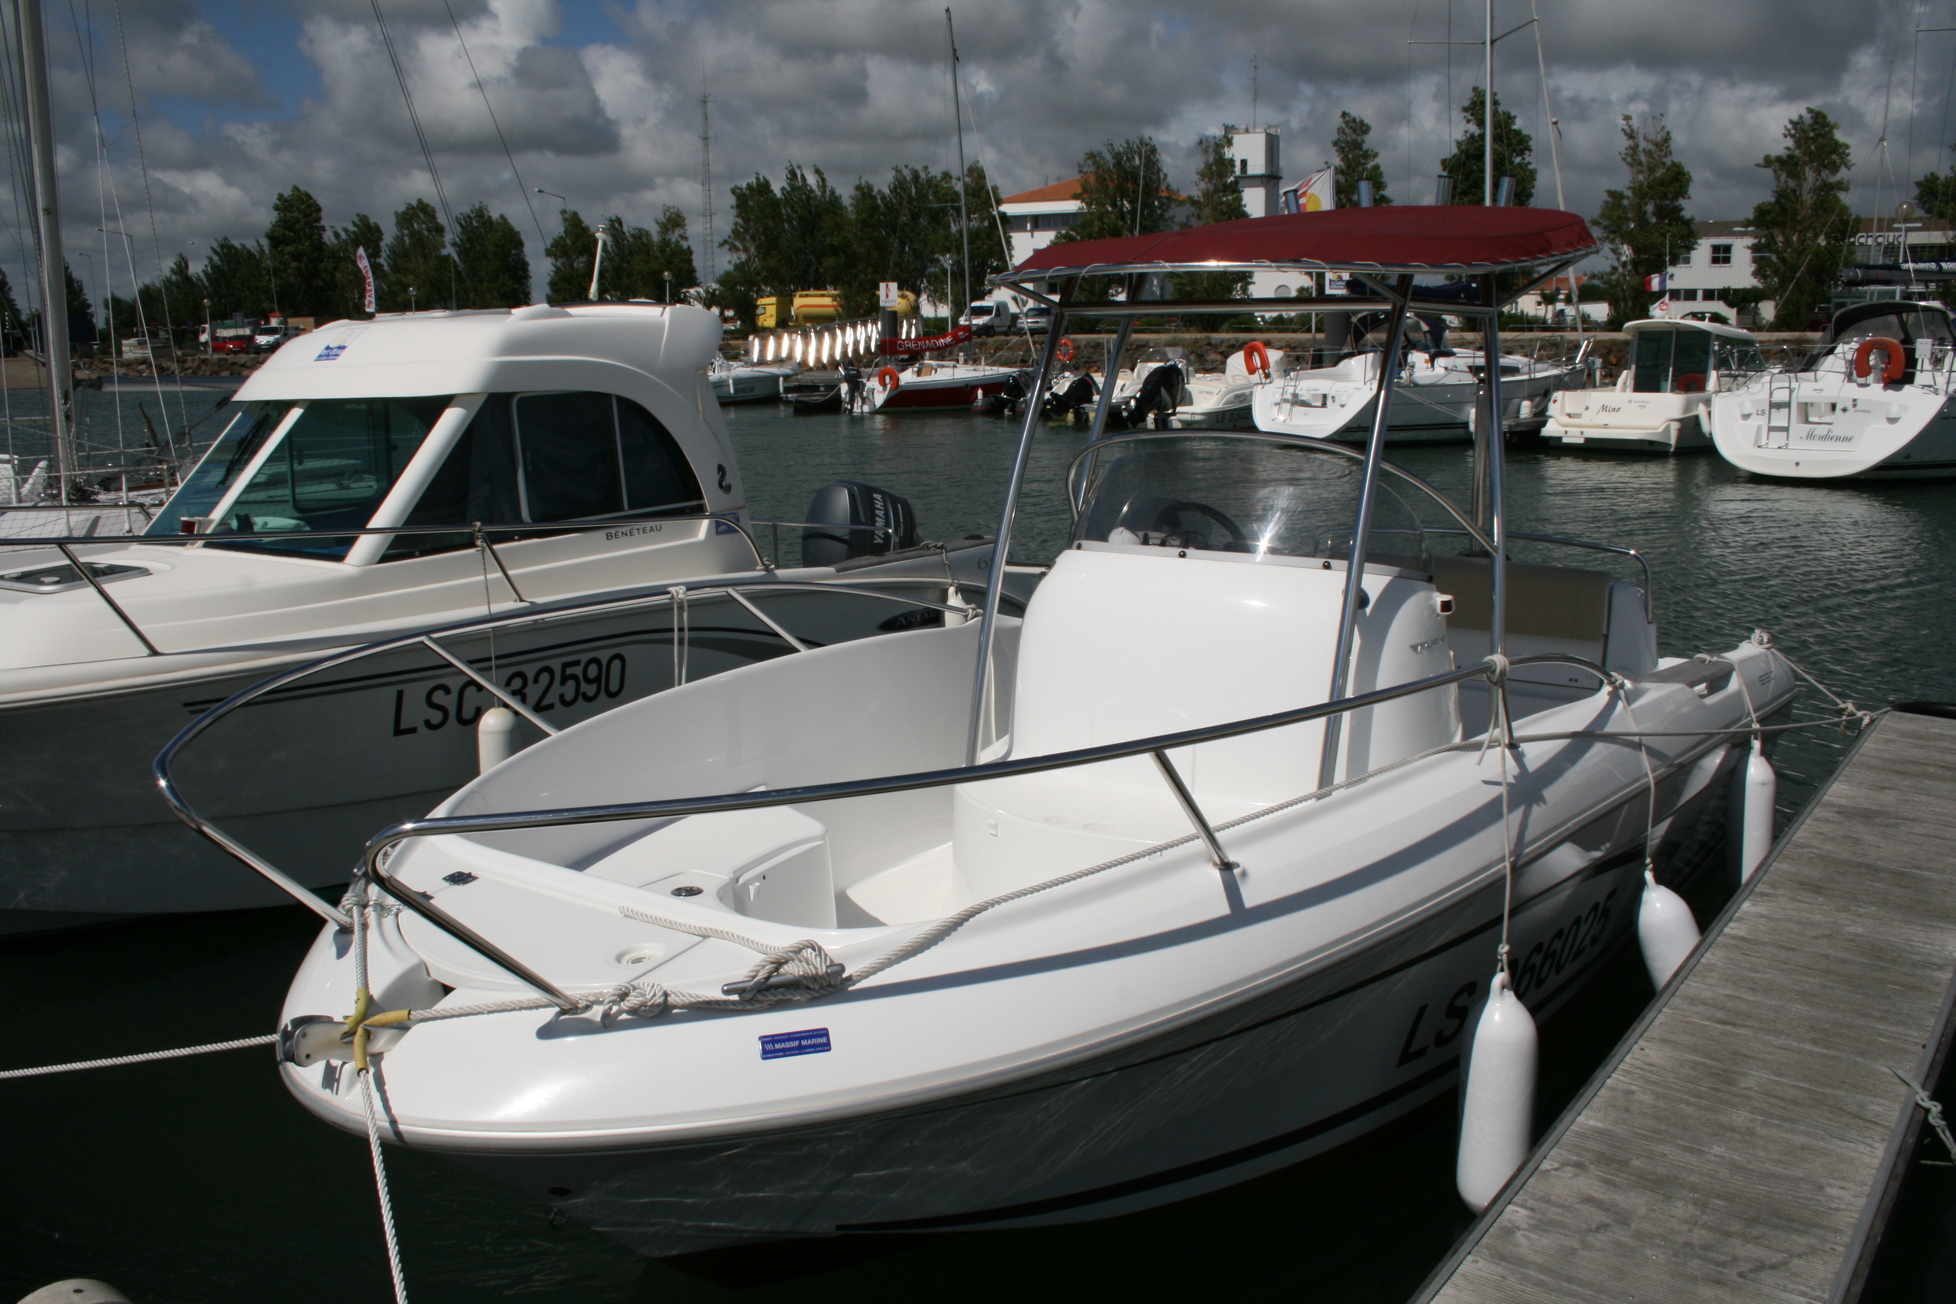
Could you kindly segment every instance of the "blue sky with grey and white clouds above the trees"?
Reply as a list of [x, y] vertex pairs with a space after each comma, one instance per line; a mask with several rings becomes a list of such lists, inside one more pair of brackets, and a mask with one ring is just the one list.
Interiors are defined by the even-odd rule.
[[[1622, 113], [1667, 115], [1696, 176], [1698, 217], [1751, 211], [1762, 196], [1753, 164], [1807, 106], [1841, 121], [1860, 211], [1876, 203], [1878, 184], [1889, 209], [1895, 178], [1956, 160], [1956, 31], [1917, 31], [1956, 27], [1956, 0], [1537, 2], [1567, 205], [1580, 213], [1620, 184]], [[450, 201], [509, 213], [528, 233], [532, 264], [542, 258], [526, 190], [546, 231], [557, 215], [536, 188], [587, 217], [616, 211], [644, 225], [677, 203], [698, 242], [702, 94], [712, 94], [720, 235], [728, 186], [755, 172], [778, 180], [790, 160], [847, 188], [859, 176], [888, 178], [892, 164], [955, 158], [937, 4], [379, 8]], [[135, 237], [135, 274], [149, 280], [158, 252], [168, 262], [184, 250], [196, 264], [221, 235], [258, 237], [272, 196], [293, 184], [319, 196], [329, 223], [364, 211], [385, 227], [401, 203], [432, 197], [372, 0], [121, 0], [119, 12], [113, 0], [49, 0], [45, 14], [65, 240], [92, 297], [104, 264], [113, 264], [117, 291], [129, 285], [131, 254], [119, 237], [104, 246], [100, 227]], [[1007, 194], [1072, 176], [1082, 151], [1140, 133], [1160, 141], [1172, 180], [1185, 182], [1195, 137], [1252, 117], [1281, 127], [1285, 170], [1301, 174], [1330, 156], [1338, 111], [1350, 109], [1373, 123], [1393, 196], [1426, 199], [1457, 131], [1449, 106], [1481, 78], [1479, 49], [1410, 45], [1479, 37], [1485, 8], [1469, 0], [962, 0], [955, 14], [966, 151]], [[1496, 31], [1528, 18], [1524, 0], [1494, 4]], [[1535, 137], [1535, 203], [1553, 205], [1532, 31], [1500, 45], [1494, 82]], [[1888, 172], [1876, 149], [1884, 102]], [[16, 180], [12, 168], [6, 180]], [[0, 209], [0, 266], [20, 287], [27, 209], [14, 190]]]

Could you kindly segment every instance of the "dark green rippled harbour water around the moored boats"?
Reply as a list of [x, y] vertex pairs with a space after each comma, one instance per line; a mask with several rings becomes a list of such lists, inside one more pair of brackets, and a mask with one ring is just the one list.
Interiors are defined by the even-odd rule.
[[[773, 407], [730, 409], [728, 418], [755, 516], [800, 518], [820, 485], [863, 479], [906, 495], [925, 538], [998, 524], [1013, 424], [962, 413], [794, 418]], [[1021, 512], [1027, 559], [1050, 557], [1066, 534], [1062, 475], [1080, 446], [1072, 428], [1041, 432]], [[1465, 448], [1395, 450], [1395, 461], [1465, 497]], [[1625, 543], [1651, 559], [1663, 651], [1723, 649], [1764, 628], [1854, 702], [1956, 700], [1956, 483], [1766, 483], [1710, 454], [1520, 448], [1508, 465], [1514, 528]], [[794, 559], [796, 547], [784, 542], [784, 553]], [[1569, 559], [1530, 547], [1518, 555]], [[1813, 692], [1794, 712], [1825, 714]], [[1784, 739], [1782, 823], [1841, 749], [1831, 733]], [[1712, 888], [1694, 897], [1702, 919], [1717, 903]], [[4, 1064], [264, 1032], [315, 925], [295, 907], [8, 940]], [[1641, 962], [1623, 952], [1545, 1024], [1539, 1122], [1577, 1093], [1649, 995]], [[0, 1099], [14, 1118], [10, 1181], [0, 1183], [0, 1298], [82, 1275], [115, 1282], [137, 1304], [385, 1298], [366, 1146], [291, 1103], [270, 1052], [0, 1083]], [[387, 1171], [409, 1288], [422, 1304], [720, 1300], [769, 1284], [804, 1300], [1201, 1290], [1387, 1304], [1406, 1298], [1469, 1222], [1453, 1195], [1453, 1103], [1440, 1101], [1301, 1169], [1107, 1222], [818, 1241], [685, 1267], [554, 1224], [548, 1208], [434, 1155], [389, 1150]]]

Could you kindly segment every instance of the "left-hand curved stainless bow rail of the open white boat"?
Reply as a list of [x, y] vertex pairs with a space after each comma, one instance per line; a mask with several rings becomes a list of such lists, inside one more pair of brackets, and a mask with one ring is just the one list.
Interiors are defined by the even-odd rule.
[[[937, 577], [919, 575], [915, 583], [937, 587], [943, 581], [939, 581]], [[908, 606], [933, 608], [945, 614], [958, 614], [958, 616], [966, 614], [966, 608], [962, 606], [951, 606], [947, 602], [935, 602], [931, 598], [919, 598], [904, 592], [884, 592], [880, 588], [865, 588], [859, 585], [837, 585], [829, 581], [741, 581], [741, 583], [714, 585], [712, 588], [689, 590], [687, 600], [698, 602], [702, 598], [726, 596], [753, 610], [747, 602], [741, 600], [739, 594], [734, 592], [735, 588], [739, 588], [741, 592], [847, 592], [863, 598], [880, 598], [884, 602], [904, 602]], [[417, 645], [432, 649], [434, 655], [462, 669], [462, 673], [467, 674], [471, 680], [475, 680], [485, 692], [489, 692], [499, 702], [505, 702], [507, 706], [522, 714], [526, 719], [542, 727], [546, 733], [557, 733], [557, 729], [538, 719], [522, 702], [516, 702], [505, 688], [477, 674], [460, 657], [454, 657], [444, 647], [440, 647], [438, 639], [466, 637], [471, 633], [491, 633], [495, 630], [503, 630], [509, 626], [538, 626], [554, 620], [581, 618], [599, 612], [628, 610], [634, 606], [659, 606], [671, 602], [673, 602], [671, 592], [651, 592], [651, 594], [636, 594], [630, 598], [606, 598], [600, 602], [569, 604], [561, 608], [552, 608], [548, 612], [528, 610], [528, 612], [507, 612], [503, 616], [481, 616], [473, 620], [456, 622], [452, 626], [440, 626], [436, 630], [419, 630], [415, 633], [403, 633], [399, 637], [383, 639], [378, 643], [366, 643], [362, 647], [350, 647], [346, 651], [331, 653], [327, 657], [317, 657], [313, 661], [307, 661], [305, 665], [297, 665], [289, 671], [282, 671], [278, 674], [258, 680], [256, 684], [241, 688], [239, 692], [231, 694], [211, 710], [192, 719], [188, 725], [184, 725], [184, 729], [176, 733], [176, 737], [172, 737], [164, 745], [160, 753], [156, 753], [156, 759], [151, 762], [151, 774], [156, 780], [156, 790], [160, 792], [164, 804], [176, 813], [178, 819], [190, 825], [192, 831], [207, 837], [219, 848], [243, 860], [260, 876], [270, 880], [274, 888], [286, 891], [307, 909], [315, 911], [323, 919], [336, 923], [338, 927], [344, 929], [350, 927], [350, 921], [342, 911], [321, 901], [293, 878], [289, 878], [274, 864], [254, 854], [250, 848], [243, 847], [235, 839], [231, 839], [215, 823], [200, 815], [196, 807], [190, 805], [190, 800], [184, 798], [182, 790], [178, 790], [176, 780], [170, 774], [170, 764], [176, 761], [178, 753], [182, 753], [184, 747], [188, 747], [200, 733], [215, 725], [221, 717], [229, 716], [237, 708], [256, 698], [262, 698], [268, 692], [276, 692], [278, 688], [284, 688], [286, 684], [317, 674], [319, 671], [331, 671], [333, 667], [348, 665], [352, 661], [364, 661], [366, 657], [378, 657], [381, 653], [401, 651]], [[777, 633], [782, 633], [782, 637], [788, 637], [782, 630], [775, 626], [775, 622], [767, 620], [765, 616], [761, 620], [763, 624], [771, 626]], [[796, 639], [788, 637], [788, 641], [794, 643]], [[802, 647], [800, 651], [806, 651], [806, 647]]]

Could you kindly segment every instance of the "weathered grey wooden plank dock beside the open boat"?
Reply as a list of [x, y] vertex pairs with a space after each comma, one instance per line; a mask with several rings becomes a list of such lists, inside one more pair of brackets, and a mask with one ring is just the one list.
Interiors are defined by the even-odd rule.
[[1852, 1304], [1956, 972], [1956, 719], [1884, 716], [1420, 1304]]

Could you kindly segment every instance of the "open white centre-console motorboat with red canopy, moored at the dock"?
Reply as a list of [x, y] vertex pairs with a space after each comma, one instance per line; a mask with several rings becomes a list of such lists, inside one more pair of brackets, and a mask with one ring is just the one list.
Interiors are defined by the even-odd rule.
[[[1361, 262], [1397, 315], [1436, 264], [1492, 291], [1594, 248], [1475, 217], [1056, 244], [996, 283]], [[1449, 1091], [1496, 972], [1567, 1001], [1792, 694], [1766, 639], [1661, 657], [1649, 581], [1510, 561], [1500, 440], [1461, 508], [1383, 420], [1363, 452], [1095, 434], [1023, 620], [994, 583], [980, 622], [687, 684], [376, 835], [288, 995], [288, 1089], [649, 1255], [1162, 1204]]]

